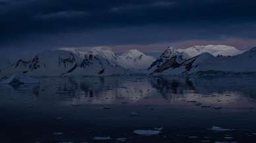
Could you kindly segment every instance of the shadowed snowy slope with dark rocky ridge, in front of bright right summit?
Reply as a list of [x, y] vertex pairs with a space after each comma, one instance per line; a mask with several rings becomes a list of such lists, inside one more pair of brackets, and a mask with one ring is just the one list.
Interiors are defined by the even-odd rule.
[[202, 53], [182, 63], [175, 63], [168, 60], [151, 74], [191, 74], [201, 71], [222, 71], [222, 72], [256, 72], [256, 47], [249, 51], [234, 56], [214, 57], [210, 53]]

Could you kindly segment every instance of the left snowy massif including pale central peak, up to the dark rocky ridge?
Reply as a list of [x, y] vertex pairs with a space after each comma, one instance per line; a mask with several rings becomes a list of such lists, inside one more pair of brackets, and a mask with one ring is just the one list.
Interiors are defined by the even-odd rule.
[[111, 49], [96, 47], [87, 51], [62, 48], [44, 51], [30, 60], [19, 59], [13, 65], [1, 69], [1, 76], [26, 73], [31, 76], [97, 76], [138, 73], [154, 61], [135, 49], [117, 55]]

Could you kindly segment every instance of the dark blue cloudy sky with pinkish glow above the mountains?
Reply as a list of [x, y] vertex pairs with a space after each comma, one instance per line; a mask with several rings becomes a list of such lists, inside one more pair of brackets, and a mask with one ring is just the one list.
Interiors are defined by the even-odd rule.
[[256, 45], [253, 0], [0, 0], [0, 48]]

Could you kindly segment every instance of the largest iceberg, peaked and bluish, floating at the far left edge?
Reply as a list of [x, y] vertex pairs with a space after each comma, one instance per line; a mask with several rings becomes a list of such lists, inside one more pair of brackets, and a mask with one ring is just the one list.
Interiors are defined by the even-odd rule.
[[31, 78], [26, 74], [13, 74], [6, 80], [0, 82], [1, 84], [35, 84], [39, 83], [39, 80]]

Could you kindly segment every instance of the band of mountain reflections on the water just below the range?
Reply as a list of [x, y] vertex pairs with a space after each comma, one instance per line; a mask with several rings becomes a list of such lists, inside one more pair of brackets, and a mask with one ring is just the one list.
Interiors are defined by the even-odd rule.
[[175, 78], [106, 76], [41, 78], [41, 84], [1, 85], [3, 100], [36, 101], [61, 105], [182, 104], [254, 105], [256, 78]]

